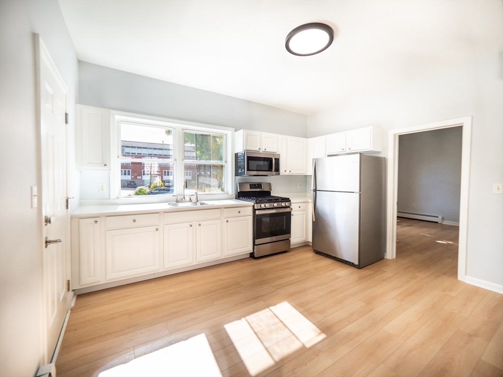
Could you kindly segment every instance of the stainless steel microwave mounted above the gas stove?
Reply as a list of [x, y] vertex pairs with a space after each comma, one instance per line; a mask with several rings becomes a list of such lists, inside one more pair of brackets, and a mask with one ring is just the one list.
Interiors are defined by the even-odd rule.
[[236, 177], [280, 175], [280, 155], [243, 151], [235, 154]]

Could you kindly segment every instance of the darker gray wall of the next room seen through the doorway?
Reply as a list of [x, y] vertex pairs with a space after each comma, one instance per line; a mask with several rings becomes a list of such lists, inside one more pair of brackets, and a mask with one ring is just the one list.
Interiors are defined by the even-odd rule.
[[398, 137], [399, 212], [459, 223], [462, 133], [453, 127]]

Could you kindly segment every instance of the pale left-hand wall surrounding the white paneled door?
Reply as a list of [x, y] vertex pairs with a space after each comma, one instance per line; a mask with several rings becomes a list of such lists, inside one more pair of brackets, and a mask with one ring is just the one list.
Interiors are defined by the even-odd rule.
[[[35, 48], [39, 33], [68, 87], [74, 140], [77, 58], [57, 1], [0, 3], [0, 375], [35, 375], [42, 362], [42, 217], [30, 186], [41, 187]], [[69, 145], [72, 148], [72, 145]], [[73, 156], [74, 152], [70, 151]], [[72, 158], [69, 161], [74, 166]], [[74, 170], [74, 169], [72, 169]], [[78, 175], [69, 177], [77, 196]], [[73, 184], [72, 184], [73, 183]]]

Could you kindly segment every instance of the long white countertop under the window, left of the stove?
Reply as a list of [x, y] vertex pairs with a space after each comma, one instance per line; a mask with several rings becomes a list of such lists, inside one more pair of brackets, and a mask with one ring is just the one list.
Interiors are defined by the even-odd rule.
[[145, 203], [145, 204], [120, 204], [120, 205], [103, 205], [103, 206], [80, 206], [71, 217], [90, 217], [103, 215], [129, 215], [137, 213], [155, 213], [161, 211], [181, 212], [181, 211], [201, 211], [210, 210], [213, 208], [231, 208], [231, 207], [251, 207], [253, 203], [244, 202], [237, 199], [226, 200], [203, 200], [201, 202], [208, 203], [210, 206], [194, 206], [194, 207], [170, 207], [168, 203]]

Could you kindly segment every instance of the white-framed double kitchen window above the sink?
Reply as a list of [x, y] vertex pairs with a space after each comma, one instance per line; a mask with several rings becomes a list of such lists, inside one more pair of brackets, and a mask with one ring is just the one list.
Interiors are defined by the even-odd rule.
[[112, 117], [118, 136], [112, 199], [139, 199], [158, 187], [180, 197], [184, 181], [186, 195], [232, 194], [232, 129], [119, 112]]

